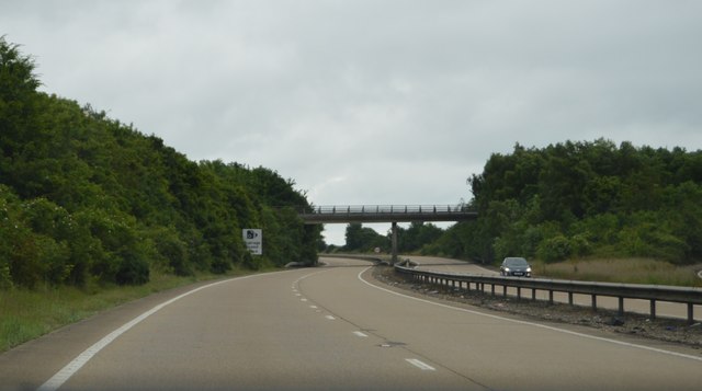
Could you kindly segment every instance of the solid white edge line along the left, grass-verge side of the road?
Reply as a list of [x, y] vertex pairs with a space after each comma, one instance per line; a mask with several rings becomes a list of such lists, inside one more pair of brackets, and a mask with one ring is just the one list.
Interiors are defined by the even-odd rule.
[[230, 283], [234, 280], [238, 280], [238, 279], [245, 279], [245, 278], [251, 278], [251, 277], [258, 277], [258, 276], [263, 276], [267, 274], [253, 274], [253, 275], [249, 275], [249, 276], [242, 276], [242, 277], [235, 277], [235, 278], [229, 278], [229, 279], [225, 279], [222, 281], [217, 281], [217, 283], [212, 283], [212, 284], [207, 284], [205, 286], [195, 288], [193, 290], [189, 290], [178, 297], [174, 297], [166, 302], [162, 302], [156, 307], [154, 307], [152, 309], [141, 313], [140, 315], [134, 318], [132, 321], [123, 324], [121, 327], [118, 327], [117, 330], [113, 331], [112, 333], [105, 335], [102, 340], [98, 341], [97, 343], [94, 343], [92, 346], [90, 346], [89, 348], [87, 348], [83, 353], [79, 354], [76, 358], [73, 358], [73, 360], [71, 360], [70, 363], [68, 363], [67, 366], [65, 366], [61, 370], [59, 370], [58, 372], [56, 372], [56, 375], [54, 375], [50, 379], [48, 379], [44, 384], [42, 384], [37, 391], [55, 391], [58, 390], [58, 388], [60, 388], [66, 381], [68, 381], [68, 379], [70, 379], [73, 375], [76, 375], [76, 372], [82, 368], [82, 366], [84, 366], [94, 355], [97, 355], [100, 350], [102, 350], [105, 346], [110, 345], [110, 343], [112, 343], [114, 340], [116, 340], [120, 335], [124, 334], [125, 332], [127, 332], [129, 329], [134, 327], [135, 325], [139, 324], [143, 320], [147, 319], [148, 317], [152, 315], [154, 313], [158, 312], [159, 310], [161, 310], [163, 307], [171, 304], [186, 296], [190, 296], [192, 294], [195, 294], [197, 291], [201, 291], [203, 289], [207, 289], [211, 287], [214, 287], [216, 285], [220, 285], [220, 284], [225, 284], [225, 283]]

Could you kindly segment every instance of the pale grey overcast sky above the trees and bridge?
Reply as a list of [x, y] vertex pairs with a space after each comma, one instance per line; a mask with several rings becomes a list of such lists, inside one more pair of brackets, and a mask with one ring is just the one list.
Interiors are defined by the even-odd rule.
[[0, 2], [44, 91], [316, 205], [467, 200], [517, 142], [698, 150], [701, 21], [695, 0]]

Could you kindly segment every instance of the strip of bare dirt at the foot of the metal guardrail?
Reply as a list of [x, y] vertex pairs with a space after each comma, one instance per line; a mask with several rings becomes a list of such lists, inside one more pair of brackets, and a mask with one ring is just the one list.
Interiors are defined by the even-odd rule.
[[569, 323], [589, 326], [618, 334], [630, 334], [646, 338], [680, 343], [702, 349], [702, 323], [687, 324], [683, 320], [648, 317], [625, 312], [619, 315], [615, 311], [575, 307], [563, 303], [550, 304], [546, 301], [517, 299], [516, 297], [491, 296], [477, 290], [442, 289], [437, 285], [418, 284], [395, 273], [392, 267], [377, 266], [373, 277], [384, 284], [428, 297], [440, 298], [464, 304], [482, 307], [494, 311], [519, 314], [528, 319], [545, 320], [557, 323]]

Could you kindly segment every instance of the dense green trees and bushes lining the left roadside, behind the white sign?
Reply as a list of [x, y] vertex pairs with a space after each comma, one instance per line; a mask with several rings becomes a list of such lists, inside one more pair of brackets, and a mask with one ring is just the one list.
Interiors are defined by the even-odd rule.
[[[316, 262], [320, 228], [297, 217], [309, 205], [292, 181], [189, 161], [38, 85], [32, 59], [0, 37], [0, 287]], [[264, 230], [263, 256], [242, 228]]]

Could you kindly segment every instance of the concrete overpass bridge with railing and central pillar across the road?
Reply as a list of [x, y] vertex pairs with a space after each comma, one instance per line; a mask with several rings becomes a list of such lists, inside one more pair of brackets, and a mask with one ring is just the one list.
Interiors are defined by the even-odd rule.
[[302, 210], [306, 225], [390, 222], [393, 225], [393, 264], [397, 261], [397, 223], [412, 221], [474, 220], [478, 212], [465, 205], [332, 205]]

